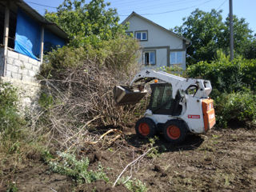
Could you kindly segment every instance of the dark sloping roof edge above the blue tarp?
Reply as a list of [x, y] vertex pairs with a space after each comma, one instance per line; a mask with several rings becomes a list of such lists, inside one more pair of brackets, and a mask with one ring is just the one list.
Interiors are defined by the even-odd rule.
[[46, 29], [52, 31], [54, 34], [57, 34], [59, 37], [67, 39], [68, 35], [54, 22], [48, 21], [45, 17], [34, 10], [31, 6], [26, 4], [23, 0], [14, 1], [18, 7], [20, 7], [26, 14], [30, 15], [31, 18], [34, 18], [37, 22], [40, 22]]

